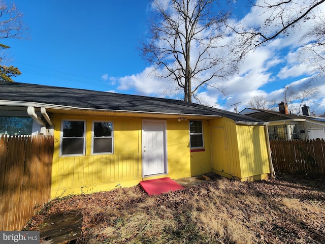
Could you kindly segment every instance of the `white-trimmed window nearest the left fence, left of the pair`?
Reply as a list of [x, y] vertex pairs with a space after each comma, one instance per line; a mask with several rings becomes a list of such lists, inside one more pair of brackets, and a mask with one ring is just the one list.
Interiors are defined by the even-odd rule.
[[85, 121], [62, 121], [61, 155], [85, 155], [85, 126]]

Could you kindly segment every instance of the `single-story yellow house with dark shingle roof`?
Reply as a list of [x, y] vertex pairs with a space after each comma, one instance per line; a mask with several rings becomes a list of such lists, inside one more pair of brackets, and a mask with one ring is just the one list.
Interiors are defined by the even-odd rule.
[[259, 119], [163, 98], [17, 82], [0, 87], [0, 117], [28, 115], [40, 133], [54, 135], [51, 198], [160, 177], [216, 172], [254, 180], [270, 173]]

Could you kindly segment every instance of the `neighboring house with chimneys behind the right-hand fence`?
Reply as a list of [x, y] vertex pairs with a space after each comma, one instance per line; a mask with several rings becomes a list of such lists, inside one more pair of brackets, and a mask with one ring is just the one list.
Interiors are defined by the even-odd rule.
[[268, 121], [270, 140], [325, 139], [325, 118], [310, 116], [309, 107], [302, 114], [289, 114], [286, 103], [279, 103], [279, 112], [245, 108], [239, 112], [252, 118]]

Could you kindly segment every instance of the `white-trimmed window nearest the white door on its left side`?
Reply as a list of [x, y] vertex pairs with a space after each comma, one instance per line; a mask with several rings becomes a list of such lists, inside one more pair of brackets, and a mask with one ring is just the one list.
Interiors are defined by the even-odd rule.
[[113, 122], [94, 121], [92, 127], [92, 154], [112, 154]]

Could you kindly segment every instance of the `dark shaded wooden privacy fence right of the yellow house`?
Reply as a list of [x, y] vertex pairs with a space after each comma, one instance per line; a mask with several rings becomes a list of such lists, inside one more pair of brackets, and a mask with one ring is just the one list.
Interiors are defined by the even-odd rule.
[[325, 175], [325, 142], [316, 140], [270, 140], [275, 171]]

